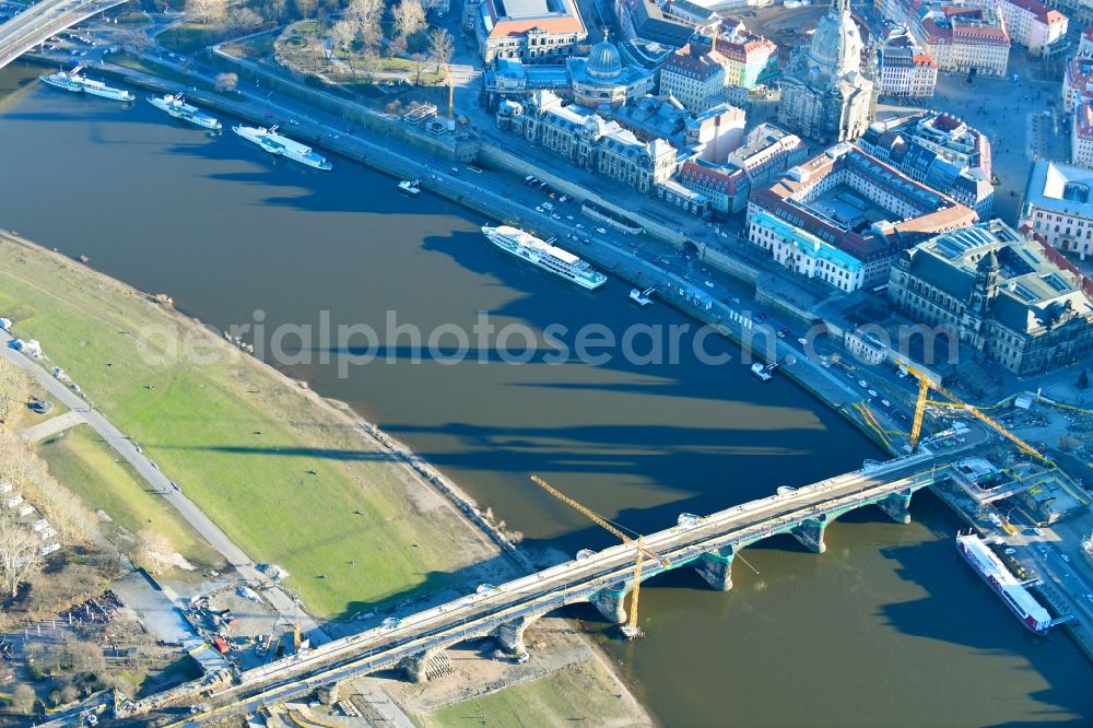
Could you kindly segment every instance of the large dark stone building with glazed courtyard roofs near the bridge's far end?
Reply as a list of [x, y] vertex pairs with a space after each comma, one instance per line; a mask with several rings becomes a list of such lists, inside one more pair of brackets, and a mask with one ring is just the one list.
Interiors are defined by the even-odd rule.
[[1093, 300], [1083, 281], [1000, 220], [906, 250], [888, 291], [904, 315], [950, 327], [984, 360], [1020, 376], [1093, 352]]

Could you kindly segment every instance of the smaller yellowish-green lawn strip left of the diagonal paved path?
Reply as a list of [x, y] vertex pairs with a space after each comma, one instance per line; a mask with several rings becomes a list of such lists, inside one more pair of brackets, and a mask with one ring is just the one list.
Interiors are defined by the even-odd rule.
[[91, 510], [102, 509], [110, 517], [113, 522], [103, 524], [103, 530], [121, 550], [128, 551], [132, 542], [121, 536], [120, 529], [136, 536], [150, 528], [169, 539], [196, 567], [222, 566], [221, 555], [174, 508], [165, 508], [132, 466], [87, 425], [46, 441], [38, 449], [62, 485], [79, 495]]

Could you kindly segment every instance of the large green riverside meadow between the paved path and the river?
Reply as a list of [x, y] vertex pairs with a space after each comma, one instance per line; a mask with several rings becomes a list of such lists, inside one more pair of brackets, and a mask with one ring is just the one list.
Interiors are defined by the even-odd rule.
[[[337, 412], [148, 296], [0, 240], [0, 310], [251, 559], [286, 568], [313, 612], [436, 588], [494, 553]], [[220, 360], [143, 361], [137, 334], [164, 327], [196, 332]], [[165, 347], [148, 339], [145, 351]]]

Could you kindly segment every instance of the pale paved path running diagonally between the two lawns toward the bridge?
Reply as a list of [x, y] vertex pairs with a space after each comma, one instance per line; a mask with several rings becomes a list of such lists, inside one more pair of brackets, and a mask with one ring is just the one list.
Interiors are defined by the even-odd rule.
[[[266, 580], [258, 570], [255, 568], [254, 562], [244, 553], [243, 549], [236, 545], [216, 524], [212, 522], [212, 519], [197, 504], [186, 497], [181, 490], [176, 489], [172, 484], [171, 479], [152, 465], [152, 461], [138, 449], [137, 444], [132, 439], [122, 434], [102, 412], [91, 407], [79, 395], [69, 389], [68, 386], [50, 375], [49, 372], [35, 364], [23, 353], [12, 349], [12, 341], [13, 339], [8, 331], [0, 330], [0, 356], [7, 357], [20, 368], [28, 372], [51, 397], [72, 412], [82, 415], [84, 421], [103, 438], [103, 442], [125, 458], [137, 473], [174, 506], [183, 518], [193, 527], [193, 530], [201, 535], [201, 538], [208, 541], [213, 549], [224, 556], [227, 563], [235, 567], [240, 576], [248, 582]], [[298, 621], [301, 629], [308, 635], [313, 644], [329, 642], [329, 636], [284, 591], [278, 588], [266, 589], [263, 595], [278, 612]]]

